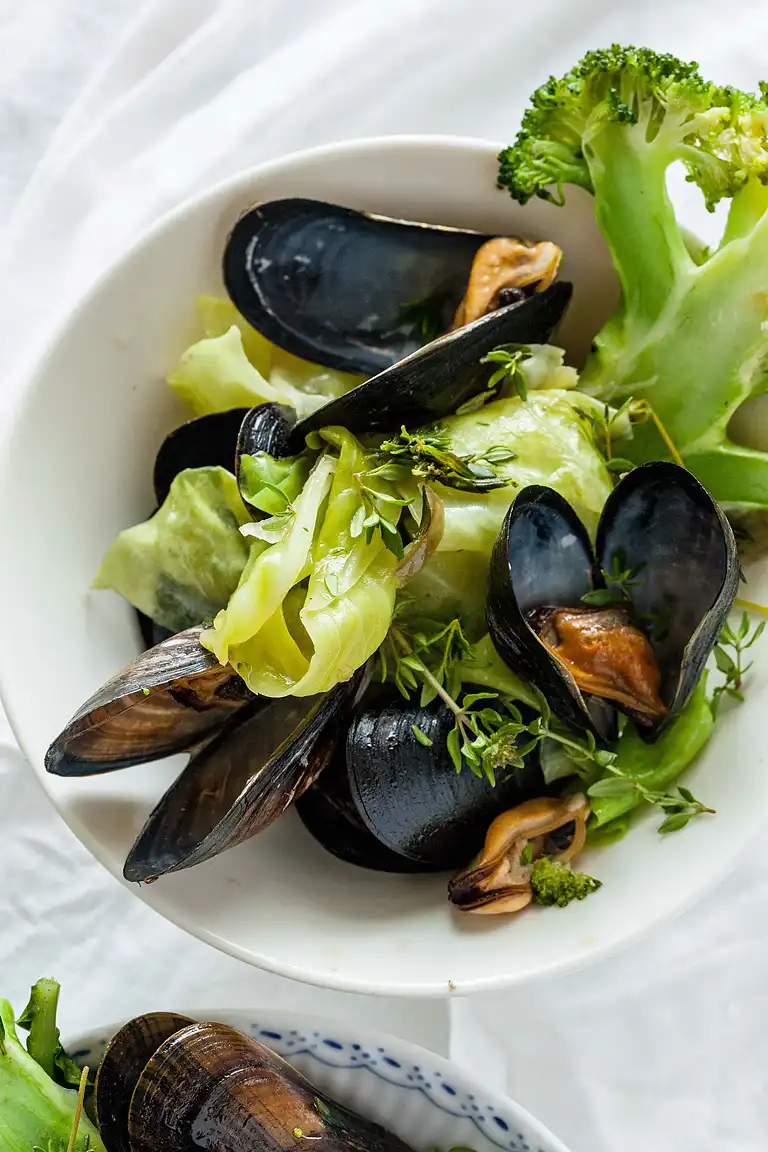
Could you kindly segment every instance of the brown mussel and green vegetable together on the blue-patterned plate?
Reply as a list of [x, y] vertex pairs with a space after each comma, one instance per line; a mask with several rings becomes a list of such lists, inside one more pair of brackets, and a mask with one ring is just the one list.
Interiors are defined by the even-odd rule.
[[[17, 1020], [0, 1000], [3, 1149], [289, 1152], [311, 1140], [326, 1152], [409, 1152], [250, 1032], [215, 1020], [137, 1016], [97, 1067], [81, 1069], [59, 1037], [59, 991], [38, 980]], [[17, 1028], [30, 1031], [26, 1049]]]

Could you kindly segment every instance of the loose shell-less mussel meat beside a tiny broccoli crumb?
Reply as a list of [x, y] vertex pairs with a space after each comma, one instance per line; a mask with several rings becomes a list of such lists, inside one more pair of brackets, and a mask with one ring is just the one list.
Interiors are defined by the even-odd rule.
[[448, 885], [464, 912], [519, 912], [533, 900], [531, 873], [539, 856], [565, 864], [584, 848], [590, 805], [577, 793], [564, 799], [525, 801], [497, 816], [482, 850]]

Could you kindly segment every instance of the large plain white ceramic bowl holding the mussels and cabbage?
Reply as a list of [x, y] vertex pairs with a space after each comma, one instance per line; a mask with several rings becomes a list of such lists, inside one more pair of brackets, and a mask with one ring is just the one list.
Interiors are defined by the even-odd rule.
[[[0, 452], [3, 605], [0, 687], [15, 733], [63, 819], [121, 877], [180, 758], [90, 780], [43, 770], [50, 741], [138, 649], [135, 615], [91, 593], [101, 554], [152, 510], [152, 462], [183, 418], [162, 377], [193, 334], [195, 296], [221, 291], [228, 229], [257, 199], [314, 196], [389, 215], [519, 230], [564, 248], [576, 285], [565, 340], [578, 358], [616, 298], [591, 200], [519, 209], [495, 188], [495, 145], [451, 138], [366, 141], [288, 157], [184, 205], [90, 293], [30, 378]], [[760, 598], [760, 589], [751, 588]], [[188, 872], [134, 888], [218, 948], [284, 976], [357, 992], [442, 995], [575, 968], [689, 904], [732, 865], [768, 802], [758, 667], [747, 703], [717, 726], [693, 788], [717, 809], [656, 835], [654, 816], [587, 859], [591, 900], [517, 919], [459, 917], [443, 877], [385, 876], [326, 855], [288, 813]]]

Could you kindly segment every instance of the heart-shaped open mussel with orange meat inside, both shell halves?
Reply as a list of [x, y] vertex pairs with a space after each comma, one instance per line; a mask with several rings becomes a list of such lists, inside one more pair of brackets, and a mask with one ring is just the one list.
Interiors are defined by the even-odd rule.
[[693, 691], [738, 578], [706, 490], [677, 464], [644, 464], [607, 500], [594, 555], [562, 497], [519, 493], [493, 551], [488, 627], [563, 722], [604, 738], [617, 708], [655, 740]]

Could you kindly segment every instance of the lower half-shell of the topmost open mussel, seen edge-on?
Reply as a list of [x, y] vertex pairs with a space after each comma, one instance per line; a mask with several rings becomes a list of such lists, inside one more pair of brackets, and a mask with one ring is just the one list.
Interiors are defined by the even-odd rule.
[[391, 433], [403, 424], [419, 427], [453, 415], [486, 387], [493, 365], [481, 364], [484, 356], [499, 344], [546, 343], [571, 293], [569, 283], [557, 282], [439, 336], [299, 420], [294, 450], [307, 432], [328, 425], [357, 434]]

